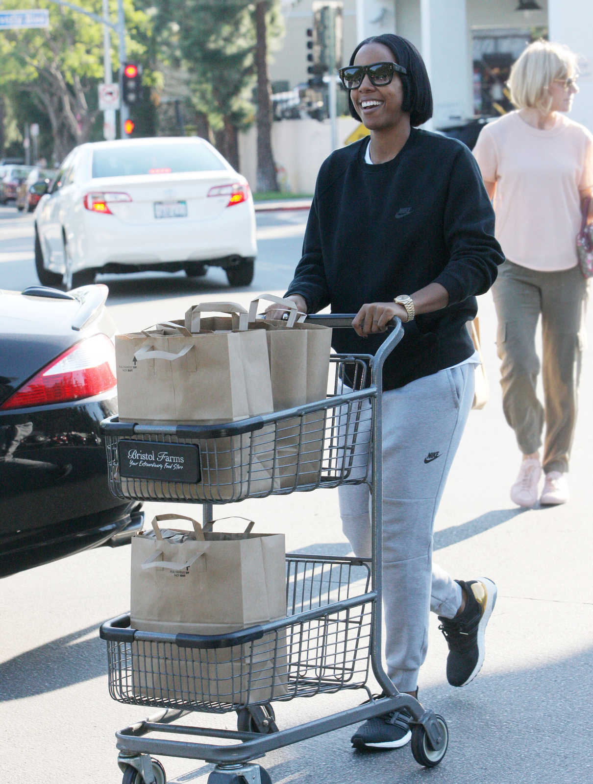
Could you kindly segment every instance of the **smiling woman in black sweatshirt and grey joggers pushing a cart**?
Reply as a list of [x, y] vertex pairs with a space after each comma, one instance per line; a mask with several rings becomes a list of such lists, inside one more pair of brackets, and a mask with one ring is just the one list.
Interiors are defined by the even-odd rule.
[[[387, 673], [417, 695], [429, 609], [449, 644], [447, 678], [464, 686], [484, 658], [496, 601], [489, 579], [453, 580], [432, 564], [438, 503], [474, 395], [478, 355], [466, 322], [504, 256], [477, 166], [464, 144], [417, 128], [432, 114], [431, 85], [412, 44], [367, 38], [340, 69], [350, 111], [369, 136], [337, 150], [318, 175], [303, 256], [286, 296], [299, 310], [355, 312], [333, 347], [375, 354], [391, 318], [404, 338], [383, 373], [383, 598]], [[369, 489], [340, 488], [344, 534], [371, 550]], [[368, 720], [355, 746], [402, 746], [409, 715]]]

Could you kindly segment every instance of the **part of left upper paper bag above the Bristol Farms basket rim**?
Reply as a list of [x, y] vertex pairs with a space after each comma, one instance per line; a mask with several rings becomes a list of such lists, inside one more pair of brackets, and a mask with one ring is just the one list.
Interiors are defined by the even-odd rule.
[[[231, 309], [232, 318], [199, 318]], [[220, 423], [273, 410], [265, 337], [236, 303], [199, 304], [185, 325], [115, 336], [115, 357], [122, 422]]]

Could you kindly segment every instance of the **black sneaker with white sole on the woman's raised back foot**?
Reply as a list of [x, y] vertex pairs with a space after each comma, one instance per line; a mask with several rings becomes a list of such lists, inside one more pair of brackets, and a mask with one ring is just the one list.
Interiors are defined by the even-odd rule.
[[477, 580], [456, 580], [465, 593], [467, 603], [458, 618], [442, 618], [438, 627], [449, 645], [447, 681], [452, 686], [465, 686], [476, 677], [484, 662], [484, 632], [497, 601], [497, 586], [487, 577]]

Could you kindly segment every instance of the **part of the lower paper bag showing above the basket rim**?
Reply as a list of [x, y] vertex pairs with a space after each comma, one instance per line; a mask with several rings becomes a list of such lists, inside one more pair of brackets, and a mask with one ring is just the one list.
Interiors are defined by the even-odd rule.
[[134, 628], [218, 634], [286, 615], [283, 534], [253, 534], [253, 523], [242, 533], [202, 532], [181, 516], [193, 532], [162, 535], [158, 523], [176, 517], [158, 515], [132, 539]]

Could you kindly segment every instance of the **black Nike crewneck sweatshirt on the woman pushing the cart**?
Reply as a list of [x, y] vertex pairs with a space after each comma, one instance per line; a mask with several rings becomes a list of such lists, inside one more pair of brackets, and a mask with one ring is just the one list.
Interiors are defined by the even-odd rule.
[[[304, 235], [303, 256], [286, 294], [300, 294], [309, 313], [331, 306], [356, 313], [431, 282], [449, 305], [405, 324], [384, 366], [384, 389], [457, 365], [471, 356], [465, 326], [475, 295], [487, 292], [504, 256], [478, 165], [463, 143], [412, 129], [398, 155], [367, 164], [367, 139], [323, 162]], [[374, 354], [384, 334], [358, 337], [334, 329], [338, 353]]]

